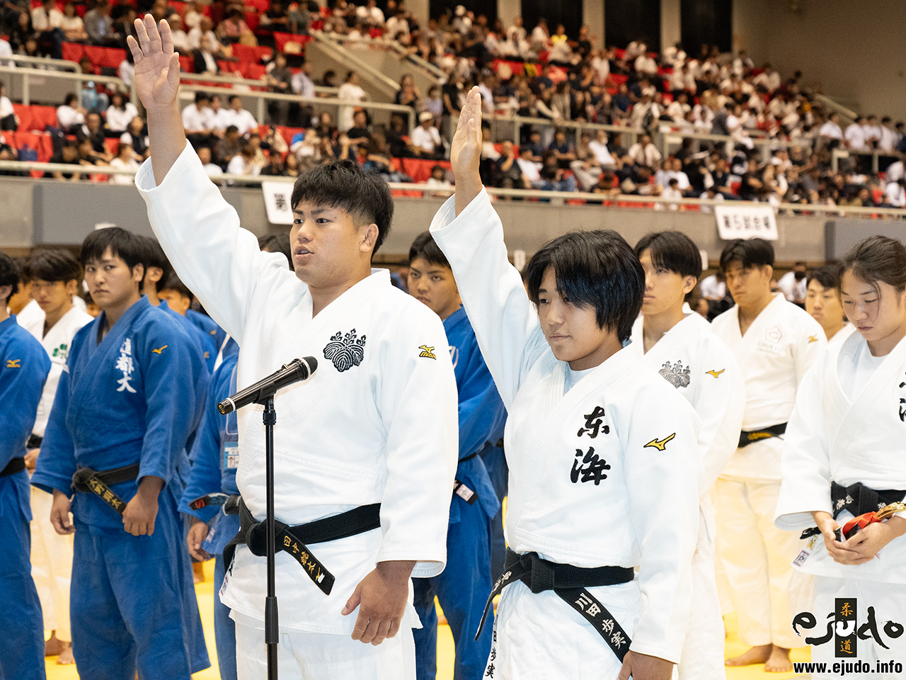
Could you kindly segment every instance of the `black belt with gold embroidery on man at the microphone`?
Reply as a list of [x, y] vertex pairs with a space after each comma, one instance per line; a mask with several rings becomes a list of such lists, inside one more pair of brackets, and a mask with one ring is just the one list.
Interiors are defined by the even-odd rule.
[[[236, 546], [247, 545], [253, 555], [263, 558], [267, 554], [267, 529], [265, 522], [252, 517], [245, 500], [239, 499], [239, 533], [224, 548], [224, 564], [229, 569], [233, 563]], [[333, 517], [315, 520], [308, 524], [290, 527], [274, 521], [274, 539], [277, 550], [283, 550], [294, 557], [308, 573], [314, 585], [324, 595], [330, 595], [333, 588], [333, 574], [318, 561], [308, 549], [307, 543], [326, 543], [330, 540], [348, 539], [381, 528], [381, 503], [361, 505], [341, 512]]]

